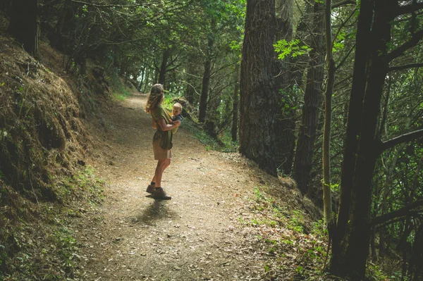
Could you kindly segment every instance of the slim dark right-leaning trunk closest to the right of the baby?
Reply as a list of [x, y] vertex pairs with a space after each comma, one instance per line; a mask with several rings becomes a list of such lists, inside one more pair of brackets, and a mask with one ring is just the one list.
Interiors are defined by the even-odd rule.
[[207, 100], [209, 98], [210, 74], [212, 73], [212, 49], [214, 45], [214, 29], [216, 27], [216, 20], [212, 19], [211, 32], [209, 32], [207, 40], [207, 57], [204, 62], [204, 74], [202, 80], [202, 89], [200, 96], [200, 109], [198, 112], [198, 120], [204, 123], [207, 113]]

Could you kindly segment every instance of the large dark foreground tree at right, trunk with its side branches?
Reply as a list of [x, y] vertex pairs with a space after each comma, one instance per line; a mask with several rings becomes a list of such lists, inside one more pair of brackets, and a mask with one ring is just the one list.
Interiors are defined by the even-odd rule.
[[[390, 68], [389, 63], [395, 63], [396, 58], [416, 46], [423, 37], [423, 30], [417, 30], [412, 24], [409, 25], [407, 36], [391, 37], [392, 27], [395, 20], [399, 20], [398, 17], [403, 20], [411, 13], [409, 19], [412, 22], [413, 13], [423, 8], [422, 3], [400, 5], [400, 2], [362, 0], [357, 24], [353, 87], [341, 178], [341, 204], [333, 232], [331, 258], [333, 273], [355, 280], [364, 279], [369, 254], [369, 214], [376, 160], [383, 151], [423, 135], [423, 130], [416, 130], [384, 142], [377, 137], [386, 75], [393, 68], [398, 69], [395, 66]], [[396, 40], [393, 41], [393, 38]], [[415, 64], [407, 67], [415, 67]]]

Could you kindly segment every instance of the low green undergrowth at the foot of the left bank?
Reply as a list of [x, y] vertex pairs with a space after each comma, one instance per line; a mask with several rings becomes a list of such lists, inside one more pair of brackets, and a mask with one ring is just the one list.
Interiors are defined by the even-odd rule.
[[71, 225], [102, 204], [104, 182], [90, 167], [56, 180], [66, 193], [61, 204], [30, 201], [0, 181], [0, 280], [78, 277], [80, 245]]

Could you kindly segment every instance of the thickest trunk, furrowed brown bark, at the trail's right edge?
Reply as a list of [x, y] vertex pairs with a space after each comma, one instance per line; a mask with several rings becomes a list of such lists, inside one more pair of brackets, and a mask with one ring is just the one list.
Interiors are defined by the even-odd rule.
[[271, 175], [276, 175], [277, 168], [274, 27], [274, 0], [247, 0], [240, 75], [240, 152]]

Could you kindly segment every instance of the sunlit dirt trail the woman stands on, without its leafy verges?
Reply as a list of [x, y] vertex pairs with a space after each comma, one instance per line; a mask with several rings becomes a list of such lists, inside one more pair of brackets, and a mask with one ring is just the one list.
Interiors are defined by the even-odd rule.
[[239, 219], [263, 181], [257, 168], [206, 151], [182, 124], [162, 183], [172, 199], [147, 197], [157, 161], [146, 99], [134, 93], [107, 109], [107, 135], [94, 140], [88, 164], [106, 181], [105, 201], [78, 219], [83, 280], [264, 280], [267, 253]]

